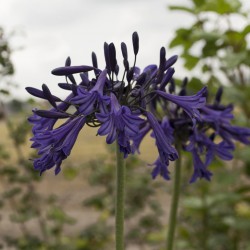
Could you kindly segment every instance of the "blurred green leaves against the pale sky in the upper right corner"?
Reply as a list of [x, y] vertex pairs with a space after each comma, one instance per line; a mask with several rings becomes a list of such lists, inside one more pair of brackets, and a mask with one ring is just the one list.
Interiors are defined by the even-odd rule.
[[[191, 1], [191, 0], [190, 0]], [[247, 21], [239, 0], [204, 0], [191, 1], [193, 8], [186, 6], [170, 6], [191, 14], [195, 22], [190, 27], [176, 30], [170, 48], [182, 48], [181, 57], [184, 66], [192, 70], [199, 69], [205, 76], [213, 75], [216, 82], [223, 79], [223, 85], [245, 84], [243, 68], [249, 70], [249, 46], [247, 36], [250, 28], [246, 25], [242, 30], [232, 26], [232, 16], [237, 15], [242, 22]], [[209, 15], [213, 12], [213, 16]], [[221, 74], [226, 77], [221, 78]], [[209, 76], [210, 77], [210, 76]]]

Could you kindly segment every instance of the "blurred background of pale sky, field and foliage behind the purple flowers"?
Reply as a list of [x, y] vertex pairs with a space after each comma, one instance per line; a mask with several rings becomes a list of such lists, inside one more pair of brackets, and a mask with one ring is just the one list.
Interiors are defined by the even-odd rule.
[[[174, 4], [174, 5], [173, 5]], [[114, 149], [84, 128], [63, 171], [39, 176], [30, 158], [34, 107], [25, 87], [62, 97], [50, 74], [70, 56], [72, 65], [104, 68], [103, 43], [125, 42], [132, 55], [137, 31], [137, 65], [179, 55], [177, 84], [189, 78], [194, 93], [204, 84], [212, 99], [235, 105], [234, 123], [250, 126], [250, 2], [248, 0], [0, 0], [0, 248], [114, 249]], [[122, 60], [120, 60], [120, 63]], [[238, 145], [231, 162], [213, 162], [210, 183], [189, 184], [192, 159], [184, 154], [176, 249], [250, 249], [250, 149]], [[141, 154], [128, 159], [126, 244], [129, 250], [164, 249], [171, 181], [151, 180], [156, 158], [147, 137]], [[172, 176], [173, 166], [170, 167]]]

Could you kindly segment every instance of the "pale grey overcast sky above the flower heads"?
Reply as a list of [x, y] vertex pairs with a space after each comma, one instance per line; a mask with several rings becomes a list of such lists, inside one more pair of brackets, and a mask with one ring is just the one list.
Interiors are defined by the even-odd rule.
[[[248, 7], [250, 1], [245, 0]], [[62, 66], [67, 56], [72, 64], [91, 64], [91, 52], [104, 67], [103, 43], [114, 42], [117, 50], [123, 41], [132, 58], [131, 35], [137, 31], [140, 51], [137, 65], [141, 68], [159, 61], [159, 50], [167, 47], [176, 28], [193, 20], [180, 12], [169, 12], [171, 3], [188, 4], [188, 0], [0, 0], [0, 26], [10, 33], [15, 30], [12, 47], [16, 73], [14, 81], [18, 98], [27, 97], [24, 87], [40, 88], [46, 83], [58, 94], [62, 80], [50, 74]], [[21, 48], [21, 49], [19, 49]], [[119, 54], [120, 52], [117, 52]], [[178, 50], [167, 52], [167, 56]], [[120, 61], [122, 64], [122, 62]], [[132, 62], [131, 62], [132, 63]], [[177, 69], [181, 64], [177, 62]], [[179, 74], [180, 75], [180, 74]]]

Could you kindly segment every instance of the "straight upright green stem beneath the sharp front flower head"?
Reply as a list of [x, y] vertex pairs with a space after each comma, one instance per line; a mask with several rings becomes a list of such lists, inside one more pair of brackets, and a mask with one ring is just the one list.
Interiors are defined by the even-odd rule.
[[116, 143], [116, 250], [124, 250], [125, 160]]

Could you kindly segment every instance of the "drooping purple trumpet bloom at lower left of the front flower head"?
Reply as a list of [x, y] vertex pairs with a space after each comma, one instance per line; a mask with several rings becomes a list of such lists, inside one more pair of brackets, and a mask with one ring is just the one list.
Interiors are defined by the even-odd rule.
[[55, 174], [58, 174], [62, 161], [70, 155], [84, 124], [85, 118], [78, 116], [69, 119], [56, 129], [36, 133], [31, 141], [33, 141], [32, 147], [38, 149], [40, 158], [34, 160], [34, 168], [42, 174], [56, 166]]

